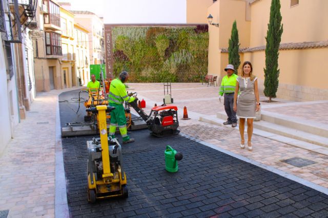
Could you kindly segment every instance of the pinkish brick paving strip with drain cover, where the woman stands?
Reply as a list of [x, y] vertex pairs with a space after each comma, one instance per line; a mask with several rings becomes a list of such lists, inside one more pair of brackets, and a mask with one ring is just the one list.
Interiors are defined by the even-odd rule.
[[[208, 131], [215, 128], [215, 126], [211, 127], [210, 124], [208, 124], [207, 127]], [[181, 127], [180, 129], [183, 128]], [[191, 137], [195, 137], [188, 131], [182, 130], [181, 132]], [[240, 149], [240, 136], [238, 129], [234, 129], [229, 135], [226, 135], [223, 138], [216, 137], [215, 135], [214, 137], [208, 137], [206, 135], [205, 137], [198, 137], [198, 139], [328, 188], [328, 157], [325, 155], [296, 148], [282, 142], [256, 135], [252, 137], [252, 152], [247, 149]], [[247, 135], [245, 135], [245, 139], [247, 139]], [[295, 157], [314, 160], [316, 163], [304, 167], [296, 167], [282, 162], [283, 160]]]

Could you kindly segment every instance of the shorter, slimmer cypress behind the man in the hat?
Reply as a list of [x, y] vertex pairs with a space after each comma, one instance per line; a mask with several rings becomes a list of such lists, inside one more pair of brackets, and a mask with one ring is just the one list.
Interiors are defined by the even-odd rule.
[[234, 66], [235, 74], [238, 75], [238, 68], [240, 65], [240, 59], [239, 59], [239, 37], [238, 37], [238, 30], [237, 30], [237, 22], [236, 20], [232, 24], [232, 30], [231, 30], [231, 38], [229, 39], [229, 48], [228, 48], [228, 54], [229, 54], [229, 64], [232, 64]]

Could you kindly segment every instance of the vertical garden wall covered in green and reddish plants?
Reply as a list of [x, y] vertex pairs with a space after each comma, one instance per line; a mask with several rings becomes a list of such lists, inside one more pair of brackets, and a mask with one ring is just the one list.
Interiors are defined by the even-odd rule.
[[207, 25], [113, 27], [114, 75], [131, 82], [198, 82], [207, 74]]

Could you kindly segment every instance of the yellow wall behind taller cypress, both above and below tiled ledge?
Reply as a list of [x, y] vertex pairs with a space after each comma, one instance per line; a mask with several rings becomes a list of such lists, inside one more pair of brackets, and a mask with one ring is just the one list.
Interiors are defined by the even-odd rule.
[[[299, 0], [291, 7], [291, 1], [280, 1], [283, 33], [280, 43], [326, 41], [328, 39], [328, 1]], [[251, 4], [250, 47], [265, 46], [270, 18], [271, 0]], [[265, 52], [245, 53], [245, 60], [253, 63], [254, 74], [259, 77], [259, 89], [264, 89]], [[328, 48], [279, 50], [278, 98], [290, 100], [328, 99]], [[320, 79], [313, 72], [322, 72]]]

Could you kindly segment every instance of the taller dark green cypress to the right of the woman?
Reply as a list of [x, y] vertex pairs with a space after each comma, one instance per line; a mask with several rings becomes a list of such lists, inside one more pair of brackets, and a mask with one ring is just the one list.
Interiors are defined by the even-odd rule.
[[280, 0], [272, 0], [267, 37], [265, 37], [267, 46], [265, 48], [264, 68], [264, 95], [269, 97], [269, 102], [271, 102], [271, 98], [276, 97], [279, 84], [278, 56], [282, 34], [281, 19]]

